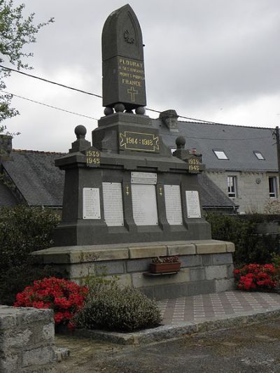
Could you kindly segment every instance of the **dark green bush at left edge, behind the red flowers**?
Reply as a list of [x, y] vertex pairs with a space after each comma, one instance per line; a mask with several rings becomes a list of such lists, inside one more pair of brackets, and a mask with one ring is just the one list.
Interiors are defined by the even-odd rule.
[[15, 295], [34, 280], [59, 276], [50, 267], [36, 267], [32, 251], [52, 245], [59, 216], [50, 209], [15, 206], [0, 209], [0, 304], [13, 304]]

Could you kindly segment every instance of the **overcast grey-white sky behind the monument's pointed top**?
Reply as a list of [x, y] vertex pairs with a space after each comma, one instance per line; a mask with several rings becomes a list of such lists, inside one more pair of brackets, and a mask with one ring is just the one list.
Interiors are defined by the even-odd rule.
[[[55, 17], [36, 44], [32, 74], [102, 94], [101, 34], [121, 0], [26, 0], [36, 22]], [[232, 125], [280, 125], [279, 0], [130, 0], [141, 25], [147, 107]], [[9, 64], [6, 64], [10, 66]], [[92, 118], [102, 99], [12, 73], [8, 92]], [[14, 148], [67, 151], [73, 129], [87, 139], [97, 121], [13, 98], [20, 115], [6, 125], [21, 132]], [[147, 111], [152, 118], [158, 115]]]

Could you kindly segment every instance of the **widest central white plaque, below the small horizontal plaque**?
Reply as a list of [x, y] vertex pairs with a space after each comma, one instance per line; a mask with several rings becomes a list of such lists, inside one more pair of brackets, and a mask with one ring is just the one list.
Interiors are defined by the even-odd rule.
[[158, 225], [155, 185], [132, 184], [132, 210], [136, 225]]

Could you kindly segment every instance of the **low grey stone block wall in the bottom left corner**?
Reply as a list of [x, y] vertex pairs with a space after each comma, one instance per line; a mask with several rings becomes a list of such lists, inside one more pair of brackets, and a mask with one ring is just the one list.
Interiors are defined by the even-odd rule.
[[54, 373], [52, 310], [0, 306], [0, 372]]

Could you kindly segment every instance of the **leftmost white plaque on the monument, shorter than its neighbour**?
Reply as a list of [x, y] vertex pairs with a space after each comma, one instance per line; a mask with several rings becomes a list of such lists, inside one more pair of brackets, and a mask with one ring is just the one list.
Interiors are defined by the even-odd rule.
[[99, 188], [83, 188], [83, 218], [101, 218]]

